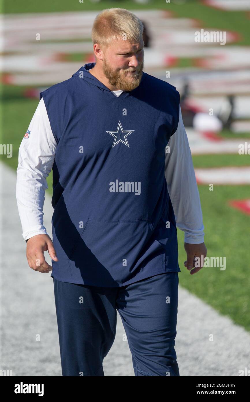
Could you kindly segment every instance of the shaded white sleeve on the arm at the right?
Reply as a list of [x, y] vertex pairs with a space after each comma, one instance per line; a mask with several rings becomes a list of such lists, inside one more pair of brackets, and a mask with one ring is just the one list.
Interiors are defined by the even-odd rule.
[[201, 202], [181, 106], [179, 108], [178, 127], [167, 144], [170, 152], [165, 153], [165, 178], [176, 226], [185, 232], [186, 243], [199, 244], [204, 242]]

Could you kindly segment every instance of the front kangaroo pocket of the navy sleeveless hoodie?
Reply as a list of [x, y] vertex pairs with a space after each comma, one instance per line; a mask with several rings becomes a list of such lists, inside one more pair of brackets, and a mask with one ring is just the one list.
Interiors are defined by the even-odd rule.
[[163, 264], [165, 252], [155, 241], [148, 219], [129, 222], [89, 219], [69, 262], [77, 268], [105, 267], [110, 271], [126, 267], [131, 271], [138, 263], [143, 265], [143, 261], [150, 260], [150, 255], [159, 256], [158, 262]]

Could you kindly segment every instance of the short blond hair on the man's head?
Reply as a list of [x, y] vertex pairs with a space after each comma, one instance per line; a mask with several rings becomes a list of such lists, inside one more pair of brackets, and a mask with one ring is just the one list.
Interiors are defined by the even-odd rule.
[[118, 38], [139, 43], [142, 33], [142, 21], [135, 14], [125, 8], [106, 8], [96, 16], [91, 37], [93, 44], [106, 48]]

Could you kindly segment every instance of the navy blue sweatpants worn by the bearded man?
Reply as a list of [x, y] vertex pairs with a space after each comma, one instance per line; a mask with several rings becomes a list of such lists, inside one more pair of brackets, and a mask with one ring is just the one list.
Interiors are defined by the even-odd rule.
[[122, 287], [53, 281], [62, 375], [104, 375], [103, 359], [116, 334], [116, 310], [135, 375], [179, 375], [175, 353], [178, 272]]

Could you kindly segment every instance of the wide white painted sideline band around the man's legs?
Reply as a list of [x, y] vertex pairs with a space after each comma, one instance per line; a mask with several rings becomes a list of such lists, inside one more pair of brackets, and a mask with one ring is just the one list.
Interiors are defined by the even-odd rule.
[[[13, 375], [61, 375], [53, 279], [50, 273], [41, 274], [28, 267], [15, 198], [16, 173], [0, 162], [0, 176], [4, 237], [0, 260], [0, 368], [12, 369]], [[51, 197], [46, 194], [44, 224], [50, 236], [52, 212]], [[50, 263], [47, 256], [45, 252]], [[181, 270], [185, 267], [181, 266]], [[220, 272], [226, 275], [227, 270]], [[192, 281], [191, 275], [189, 280]], [[116, 338], [104, 359], [104, 373], [134, 376], [128, 342], [122, 340], [125, 331], [118, 313], [117, 320]], [[39, 347], [35, 344], [37, 333], [41, 334]], [[213, 342], [209, 342], [210, 334], [213, 334]], [[181, 286], [175, 350], [180, 375], [237, 376], [240, 369], [250, 368], [250, 334]]]

